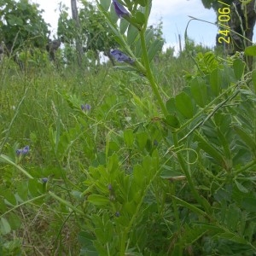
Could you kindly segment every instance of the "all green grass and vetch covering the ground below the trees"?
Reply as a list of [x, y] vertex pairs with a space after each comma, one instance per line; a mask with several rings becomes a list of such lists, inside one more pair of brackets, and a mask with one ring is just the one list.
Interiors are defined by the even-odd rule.
[[110, 2], [118, 66], [1, 62], [0, 255], [253, 256], [255, 70]]

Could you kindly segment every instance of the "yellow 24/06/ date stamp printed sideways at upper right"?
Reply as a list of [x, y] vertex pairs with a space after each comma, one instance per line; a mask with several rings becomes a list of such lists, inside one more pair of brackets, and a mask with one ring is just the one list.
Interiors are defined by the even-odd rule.
[[218, 1], [223, 4], [223, 8], [218, 9], [218, 25], [220, 30], [218, 31], [218, 43], [219, 44], [230, 44], [230, 4]]

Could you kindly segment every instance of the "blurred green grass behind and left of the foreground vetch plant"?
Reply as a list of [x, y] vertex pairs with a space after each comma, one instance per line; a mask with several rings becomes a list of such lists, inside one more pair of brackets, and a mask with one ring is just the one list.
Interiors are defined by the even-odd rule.
[[[163, 95], [171, 96], [181, 90], [183, 70], [192, 67], [187, 57], [165, 60], [163, 55], [155, 70]], [[71, 202], [79, 195], [73, 191], [72, 194], [69, 188], [85, 189], [80, 181], [86, 177], [88, 166], [104, 162], [100, 152], [113, 133], [119, 134], [159, 115], [144, 79], [119, 72], [109, 64], [97, 72], [73, 67], [56, 69], [50, 63], [22, 71], [5, 59], [0, 73], [1, 153], [36, 179], [49, 177], [49, 189], [62, 198], [68, 196]], [[80, 110], [84, 103], [90, 104], [90, 113]], [[17, 160], [15, 150], [26, 145], [30, 146], [30, 153]], [[16, 223], [3, 236], [4, 252], [78, 255], [79, 219], [49, 195], [29, 202], [33, 193], [38, 194], [33, 189], [27, 191], [27, 187], [35, 184], [15, 167], [1, 163], [0, 168], [2, 203], [4, 193], [11, 194], [9, 191], [16, 200], [17, 195], [23, 196], [17, 203], [27, 201], [13, 211], [19, 218], [14, 217]]]

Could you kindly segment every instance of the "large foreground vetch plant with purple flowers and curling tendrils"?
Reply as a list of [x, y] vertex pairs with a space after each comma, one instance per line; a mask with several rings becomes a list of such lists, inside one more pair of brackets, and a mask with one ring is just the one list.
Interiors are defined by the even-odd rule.
[[[255, 96], [247, 85], [250, 79], [244, 74], [244, 62], [236, 60], [230, 66], [212, 53], [202, 55], [199, 72], [190, 76], [177, 96], [164, 101], [152, 68], [161, 47], [148, 31], [152, 1], [113, 0], [111, 4], [98, 0], [97, 6], [119, 44], [111, 54], [130, 65], [119, 68], [143, 74], [159, 114], [147, 125], [122, 131], [122, 146], [114, 147], [120, 138], [109, 136], [105, 160], [87, 171], [83, 195], [95, 207], [90, 216], [94, 234], [90, 245], [100, 255], [122, 256], [208, 255], [205, 241], [218, 244], [220, 254], [225, 254], [222, 242], [242, 244], [248, 253], [255, 252], [253, 236], [247, 239], [246, 230], [240, 232], [238, 225], [228, 221], [233, 210], [253, 214], [235, 196], [238, 193], [244, 199], [249, 193], [240, 174], [252, 172], [256, 164], [255, 143], [251, 143], [255, 124], [241, 117], [247, 101], [252, 104], [250, 116], [255, 116]], [[234, 104], [239, 106], [236, 113]], [[242, 147], [247, 148], [247, 160]], [[245, 167], [238, 164], [240, 160], [247, 162]], [[253, 185], [253, 179], [246, 180]], [[225, 197], [233, 205], [222, 212]], [[250, 198], [256, 202], [253, 193]], [[243, 221], [246, 224], [249, 218]]]

